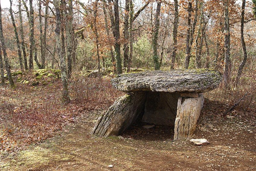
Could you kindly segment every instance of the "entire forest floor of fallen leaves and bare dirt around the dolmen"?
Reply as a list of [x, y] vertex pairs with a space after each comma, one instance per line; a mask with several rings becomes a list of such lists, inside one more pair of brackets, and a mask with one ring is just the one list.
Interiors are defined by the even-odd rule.
[[[114, 90], [108, 86], [105, 87], [108, 89], [107, 93], [100, 93], [102, 84], [98, 84], [100, 86], [93, 89], [93, 92], [98, 91], [98, 94], [87, 92], [91, 95], [84, 98], [80, 95], [78, 98], [78, 94], [86, 92], [82, 86], [88, 85], [92, 80], [76, 81], [81, 81], [79, 83], [82, 85], [71, 83], [73, 101], [68, 107], [62, 106], [59, 99], [60, 81], [46, 86], [31, 87], [20, 84], [15, 90], [1, 89], [1, 102], [5, 102], [10, 110], [13, 109], [13, 113], [5, 113], [9, 115], [4, 116], [4, 108], [0, 109], [2, 118], [0, 170], [256, 169], [254, 111], [244, 112], [238, 107], [229, 113], [228, 117], [223, 116], [228, 108], [227, 104], [214, 100], [211, 94], [205, 93], [209, 98], [205, 100], [192, 138], [206, 138], [210, 142], [209, 145], [191, 145], [189, 140], [172, 142], [172, 128], [158, 126], [144, 129], [135, 125], [121, 135], [123, 138], [98, 138], [91, 134], [97, 118], [113, 103], [110, 99], [115, 100], [121, 93], [111, 94], [110, 92], [113, 93]], [[106, 82], [104, 85], [107, 85]], [[104, 98], [98, 99], [96, 98], [98, 96]], [[77, 100], [79, 103], [76, 102]], [[44, 117], [33, 115], [34, 118], [25, 118], [24, 115], [22, 118], [17, 117], [24, 123], [12, 125], [16, 121], [13, 120], [16, 114], [31, 115], [31, 111], [37, 111], [36, 108], [43, 111], [42, 109], [46, 108], [41, 109], [40, 105], [44, 106], [48, 101], [49, 106], [46, 107], [54, 108], [44, 113], [53, 117], [53, 120], [47, 119], [46, 115]], [[38, 106], [35, 107], [35, 104]], [[33, 110], [30, 110], [31, 108]], [[38, 125], [25, 122], [29, 120], [36, 122], [38, 119], [40, 121]], [[53, 121], [55, 123], [51, 123]], [[8, 126], [4, 122], [10, 123], [8, 127], [11, 128], [10, 132], [3, 130], [3, 125], [5, 128]], [[53, 129], [55, 127], [56, 129]], [[110, 168], [108, 165], [113, 167]]]

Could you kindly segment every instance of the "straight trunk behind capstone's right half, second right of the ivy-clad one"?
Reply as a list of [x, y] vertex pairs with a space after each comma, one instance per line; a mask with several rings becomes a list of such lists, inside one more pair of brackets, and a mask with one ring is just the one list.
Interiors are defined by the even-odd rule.
[[188, 69], [189, 61], [190, 61], [190, 23], [191, 23], [191, 9], [192, 4], [188, 2], [188, 30], [187, 30], [187, 40], [186, 40], [186, 59], [185, 59], [185, 69]]

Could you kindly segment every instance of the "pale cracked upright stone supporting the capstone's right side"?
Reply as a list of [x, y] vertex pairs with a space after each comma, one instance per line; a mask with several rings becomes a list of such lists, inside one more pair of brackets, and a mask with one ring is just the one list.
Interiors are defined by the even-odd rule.
[[178, 99], [174, 140], [188, 138], [193, 135], [203, 105], [204, 96], [202, 93], [196, 98], [180, 97]]

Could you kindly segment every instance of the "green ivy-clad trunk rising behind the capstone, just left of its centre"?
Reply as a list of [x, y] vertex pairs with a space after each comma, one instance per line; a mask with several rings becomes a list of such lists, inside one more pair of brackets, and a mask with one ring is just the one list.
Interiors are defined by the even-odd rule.
[[160, 10], [161, 10], [161, 2], [162, 1], [158, 1], [156, 6], [155, 29], [154, 29], [153, 40], [152, 40], [153, 61], [155, 65], [155, 70], [160, 69], [159, 56], [157, 53], [157, 40], [158, 40], [158, 32], [159, 32], [159, 16], [160, 16]]

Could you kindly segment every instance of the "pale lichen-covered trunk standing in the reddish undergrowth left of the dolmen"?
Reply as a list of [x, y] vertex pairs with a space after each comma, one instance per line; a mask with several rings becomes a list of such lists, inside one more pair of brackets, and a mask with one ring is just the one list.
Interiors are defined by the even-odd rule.
[[62, 51], [61, 43], [60, 43], [61, 19], [60, 19], [59, 1], [53, 0], [53, 4], [55, 7], [55, 12], [56, 12], [56, 28], [55, 28], [56, 47], [57, 47], [58, 55], [60, 57], [61, 80], [62, 80], [62, 84], [63, 84], [62, 98], [65, 103], [68, 103], [68, 102], [70, 102], [70, 99], [69, 99], [69, 95], [68, 95], [68, 78], [67, 78], [67, 71], [66, 71], [66, 61], [63, 56], [63, 51]]

